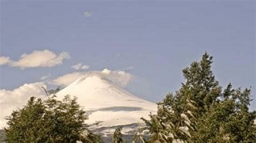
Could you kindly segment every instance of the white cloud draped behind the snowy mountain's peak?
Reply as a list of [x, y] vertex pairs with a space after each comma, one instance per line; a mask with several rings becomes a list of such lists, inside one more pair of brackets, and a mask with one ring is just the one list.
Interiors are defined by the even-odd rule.
[[102, 71], [75, 72], [75, 73], [66, 74], [66, 75], [56, 78], [55, 80], [52, 80], [49, 83], [53, 84], [53, 85], [65, 85], [66, 86], [66, 85], [69, 85], [70, 83], [74, 82], [75, 80], [77, 80], [79, 77], [81, 77], [83, 75], [89, 75], [89, 74], [100, 75], [103, 78], [106, 78], [107, 80], [110, 80], [122, 87], [125, 87], [133, 77], [132, 74], [126, 73], [123, 70], [112, 71], [109, 69], [104, 69]]

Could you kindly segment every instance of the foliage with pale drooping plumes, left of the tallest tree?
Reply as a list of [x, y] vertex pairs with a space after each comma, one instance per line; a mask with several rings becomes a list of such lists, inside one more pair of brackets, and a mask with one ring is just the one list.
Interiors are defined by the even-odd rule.
[[[142, 118], [150, 130], [150, 142], [186, 141], [191, 137], [189, 130], [197, 129], [192, 112], [197, 109], [195, 102], [190, 99], [187, 90], [180, 91], [186, 92], [186, 96], [169, 94], [163, 102], [158, 103], [157, 115], [150, 115], [151, 120]], [[177, 95], [180, 93], [177, 92]]]

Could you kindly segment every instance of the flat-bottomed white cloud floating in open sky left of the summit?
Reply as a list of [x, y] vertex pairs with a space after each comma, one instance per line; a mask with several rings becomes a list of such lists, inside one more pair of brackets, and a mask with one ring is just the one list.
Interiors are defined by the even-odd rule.
[[[9, 57], [7, 58], [9, 60]], [[30, 54], [22, 54], [18, 61], [9, 60], [9, 62], [3, 63], [8, 64], [11, 67], [19, 67], [21, 69], [25, 69], [35, 67], [53, 67], [62, 64], [64, 59], [70, 59], [68, 52], [62, 52], [59, 55], [56, 55], [48, 49], [45, 49], [43, 51], [33, 51]]]

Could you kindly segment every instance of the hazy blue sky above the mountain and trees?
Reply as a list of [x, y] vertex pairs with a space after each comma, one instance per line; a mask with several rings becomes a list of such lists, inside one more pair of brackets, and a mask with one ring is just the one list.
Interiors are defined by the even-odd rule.
[[252, 86], [255, 98], [254, 1], [1, 1], [0, 46], [0, 56], [15, 61], [44, 49], [70, 55], [52, 67], [2, 65], [0, 89], [39, 82], [48, 74], [54, 79], [84, 63], [90, 66], [85, 71], [131, 73], [136, 80], [127, 89], [158, 102], [179, 89], [181, 70], [207, 51], [221, 85]]

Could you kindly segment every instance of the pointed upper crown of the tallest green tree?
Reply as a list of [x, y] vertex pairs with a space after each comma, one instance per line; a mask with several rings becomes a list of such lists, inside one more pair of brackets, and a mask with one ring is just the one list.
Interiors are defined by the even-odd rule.
[[205, 53], [201, 61], [192, 62], [190, 67], [183, 69], [186, 80], [183, 87], [186, 86], [191, 93], [191, 99], [196, 102], [198, 116], [201, 116], [221, 93], [219, 82], [215, 80], [211, 70], [212, 59], [212, 56]]

